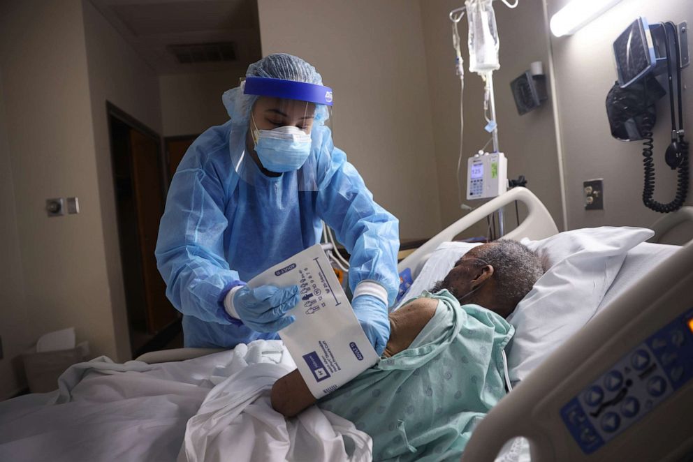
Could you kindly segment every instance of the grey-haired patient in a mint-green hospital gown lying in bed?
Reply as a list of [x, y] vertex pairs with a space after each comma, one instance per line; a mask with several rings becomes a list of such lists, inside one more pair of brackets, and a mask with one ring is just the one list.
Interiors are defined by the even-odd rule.
[[[430, 292], [390, 314], [379, 363], [317, 404], [368, 433], [374, 460], [459, 459], [506, 393], [502, 351], [514, 329], [505, 318], [542, 272], [516, 241], [472, 248]], [[298, 370], [275, 382], [271, 400], [286, 417], [316, 402]]]

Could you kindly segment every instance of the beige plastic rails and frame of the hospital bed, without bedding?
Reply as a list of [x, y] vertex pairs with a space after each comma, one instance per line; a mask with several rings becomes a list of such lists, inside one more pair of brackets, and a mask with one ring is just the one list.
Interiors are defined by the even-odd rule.
[[[524, 202], [529, 213], [504, 239], [557, 232], [541, 202], [516, 188], [437, 234], [402, 260], [400, 271], [409, 268], [416, 277], [443, 242], [513, 200]], [[691, 222], [693, 207], [683, 207], [652, 226], [652, 240]], [[639, 269], [620, 269], [624, 277], [608, 290], [588, 327], [481, 421], [462, 461], [493, 461], [515, 437], [527, 438], [535, 462], [693, 460], [693, 240], [664, 259], [657, 256], [671, 249], [655, 245], [643, 244], [650, 255], [641, 255]], [[622, 385], [613, 387], [610, 380]], [[608, 396], [610, 384], [618, 393]], [[592, 398], [601, 401], [591, 405]], [[502, 460], [529, 460], [526, 445], [521, 448], [525, 454]]]

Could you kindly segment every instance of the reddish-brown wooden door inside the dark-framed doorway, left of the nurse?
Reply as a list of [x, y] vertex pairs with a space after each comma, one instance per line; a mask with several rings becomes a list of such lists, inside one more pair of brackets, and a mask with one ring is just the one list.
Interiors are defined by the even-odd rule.
[[154, 334], [177, 318], [177, 311], [166, 298], [166, 283], [156, 269], [154, 257], [164, 205], [159, 146], [152, 137], [131, 129], [130, 150], [145, 283], [147, 331]]

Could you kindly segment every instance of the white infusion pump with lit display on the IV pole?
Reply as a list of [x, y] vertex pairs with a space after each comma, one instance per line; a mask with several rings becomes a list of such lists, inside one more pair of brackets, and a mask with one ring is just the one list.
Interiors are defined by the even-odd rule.
[[467, 200], [488, 199], [508, 190], [508, 160], [502, 152], [467, 159]]

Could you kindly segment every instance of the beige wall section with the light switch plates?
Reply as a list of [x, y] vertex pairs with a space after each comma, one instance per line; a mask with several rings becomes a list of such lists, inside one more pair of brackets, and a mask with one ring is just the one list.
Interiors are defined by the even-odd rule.
[[[21, 265], [14, 270], [24, 280], [29, 320], [27, 337], [17, 341], [75, 326], [93, 351], [115, 357], [82, 2], [27, 0], [0, 8], [15, 203], [7, 218], [17, 227]], [[80, 214], [46, 215], [47, 198], [71, 196], [80, 198]], [[4, 301], [2, 307], [12, 309]]]

